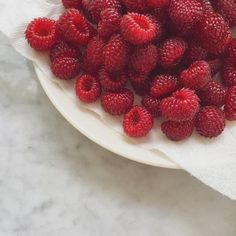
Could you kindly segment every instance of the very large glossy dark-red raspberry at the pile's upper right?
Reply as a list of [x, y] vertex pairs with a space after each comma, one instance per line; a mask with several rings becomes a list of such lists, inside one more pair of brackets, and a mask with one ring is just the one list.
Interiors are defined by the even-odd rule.
[[223, 53], [232, 39], [228, 24], [214, 12], [204, 14], [196, 26], [195, 35], [201, 45], [213, 54]]

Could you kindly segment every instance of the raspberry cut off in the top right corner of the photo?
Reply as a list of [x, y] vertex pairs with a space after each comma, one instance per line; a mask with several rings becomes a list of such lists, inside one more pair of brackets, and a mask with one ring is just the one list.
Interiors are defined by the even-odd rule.
[[230, 26], [236, 25], [236, 2], [234, 0], [213, 0], [213, 5]]

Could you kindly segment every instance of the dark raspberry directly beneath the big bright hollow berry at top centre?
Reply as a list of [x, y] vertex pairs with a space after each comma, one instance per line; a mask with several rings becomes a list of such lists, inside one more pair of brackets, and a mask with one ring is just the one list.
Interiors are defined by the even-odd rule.
[[133, 69], [141, 74], [148, 74], [157, 65], [158, 51], [155, 45], [147, 44], [137, 47], [131, 56]]

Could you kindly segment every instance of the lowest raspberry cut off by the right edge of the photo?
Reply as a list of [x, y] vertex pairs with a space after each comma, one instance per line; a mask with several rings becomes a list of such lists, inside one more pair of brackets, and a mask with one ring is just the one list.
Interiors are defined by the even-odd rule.
[[227, 120], [236, 120], [236, 86], [226, 93], [224, 112]]

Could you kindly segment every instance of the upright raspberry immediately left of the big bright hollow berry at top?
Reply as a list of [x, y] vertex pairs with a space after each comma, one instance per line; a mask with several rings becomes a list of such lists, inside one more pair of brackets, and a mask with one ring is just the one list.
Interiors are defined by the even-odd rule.
[[100, 14], [98, 23], [98, 34], [103, 38], [109, 38], [120, 30], [120, 13], [114, 8], [106, 8]]

